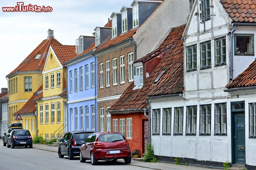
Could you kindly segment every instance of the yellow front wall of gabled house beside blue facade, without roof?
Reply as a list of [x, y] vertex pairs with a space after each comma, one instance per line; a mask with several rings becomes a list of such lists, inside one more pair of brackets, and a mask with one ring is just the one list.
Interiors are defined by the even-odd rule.
[[46, 139], [57, 138], [58, 133], [62, 136], [64, 132], [67, 99], [58, 95], [66, 88], [66, 70], [50, 49], [42, 75], [43, 96], [37, 100], [38, 135]]

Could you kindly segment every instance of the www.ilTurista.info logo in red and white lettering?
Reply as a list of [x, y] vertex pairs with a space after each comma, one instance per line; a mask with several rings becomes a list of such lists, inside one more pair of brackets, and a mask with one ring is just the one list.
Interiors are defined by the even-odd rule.
[[2, 7], [3, 12], [51, 12], [50, 6], [24, 5], [24, 2], [17, 2], [15, 7]]

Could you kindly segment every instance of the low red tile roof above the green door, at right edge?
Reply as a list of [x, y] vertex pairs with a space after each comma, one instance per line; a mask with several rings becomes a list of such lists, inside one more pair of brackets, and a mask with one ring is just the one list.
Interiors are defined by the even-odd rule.
[[226, 88], [240, 88], [256, 86], [256, 59], [250, 66], [239, 74]]

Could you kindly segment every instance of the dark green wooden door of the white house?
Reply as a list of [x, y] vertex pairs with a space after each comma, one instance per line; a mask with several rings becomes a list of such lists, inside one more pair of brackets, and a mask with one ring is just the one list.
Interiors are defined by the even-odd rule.
[[245, 126], [244, 112], [234, 113], [233, 153], [235, 164], [245, 164]]

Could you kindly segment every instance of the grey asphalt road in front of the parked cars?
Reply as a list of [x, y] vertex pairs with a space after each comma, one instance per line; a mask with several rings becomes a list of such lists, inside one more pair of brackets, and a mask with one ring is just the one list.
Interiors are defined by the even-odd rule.
[[7, 148], [3, 146], [3, 140], [0, 139], [0, 169], [100, 169], [100, 170], [131, 170], [148, 169], [132, 165], [127, 165], [124, 160], [99, 161], [98, 165], [91, 165], [90, 160], [85, 163], [79, 161], [79, 157], [69, 160], [67, 156], [59, 158], [58, 153], [44, 151], [39, 149], [29, 149], [25, 147]]

